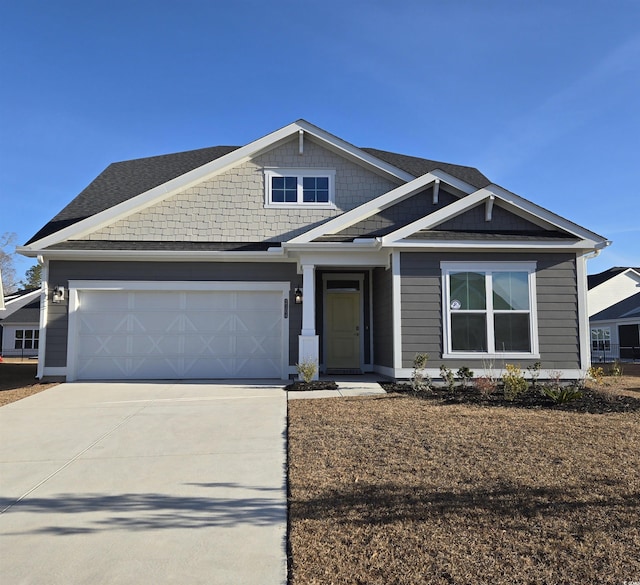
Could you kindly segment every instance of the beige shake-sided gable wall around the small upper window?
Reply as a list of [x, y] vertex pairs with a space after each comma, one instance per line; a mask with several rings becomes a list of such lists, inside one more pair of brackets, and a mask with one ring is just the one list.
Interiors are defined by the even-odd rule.
[[[337, 208], [265, 209], [264, 169], [268, 167], [335, 169]], [[300, 155], [296, 139], [96, 230], [85, 239], [283, 241], [397, 186], [311, 140], [305, 142], [304, 154]]]

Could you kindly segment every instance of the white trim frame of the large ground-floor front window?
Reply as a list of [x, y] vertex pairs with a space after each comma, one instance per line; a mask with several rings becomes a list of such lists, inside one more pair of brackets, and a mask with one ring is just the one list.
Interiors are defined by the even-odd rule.
[[[442, 357], [450, 359], [537, 359], [540, 357], [538, 344], [538, 306], [536, 299], [536, 262], [441, 262], [442, 272]], [[453, 351], [451, 349], [451, 311], [449, 308], [449, 274], [452, 272], [527, 272], [529, 275], [529, 335], [531, 351], [528, 352], [479, 352]], [[487, 319], [487, 338], [492, 339], [493, 324]]]

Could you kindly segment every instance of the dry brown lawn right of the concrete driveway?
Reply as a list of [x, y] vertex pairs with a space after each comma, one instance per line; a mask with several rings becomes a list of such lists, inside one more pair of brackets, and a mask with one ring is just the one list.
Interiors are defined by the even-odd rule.
[[289, 481], [293, 585], [640, 581], [640, 412], [291, 401]]

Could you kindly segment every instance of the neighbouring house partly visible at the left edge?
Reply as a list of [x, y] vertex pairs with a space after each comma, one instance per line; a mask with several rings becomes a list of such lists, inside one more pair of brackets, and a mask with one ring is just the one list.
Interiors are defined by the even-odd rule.
[[0, 355], [35, 357], [40, 335], [40, 289], [16, 291], [3, 297], [0, 308]]

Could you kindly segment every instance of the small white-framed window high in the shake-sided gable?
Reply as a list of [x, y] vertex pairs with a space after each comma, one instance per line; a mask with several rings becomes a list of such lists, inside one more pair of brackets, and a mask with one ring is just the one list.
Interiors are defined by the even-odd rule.
[[266, 169], [265, 207], [335, 208], [335, 170]]

